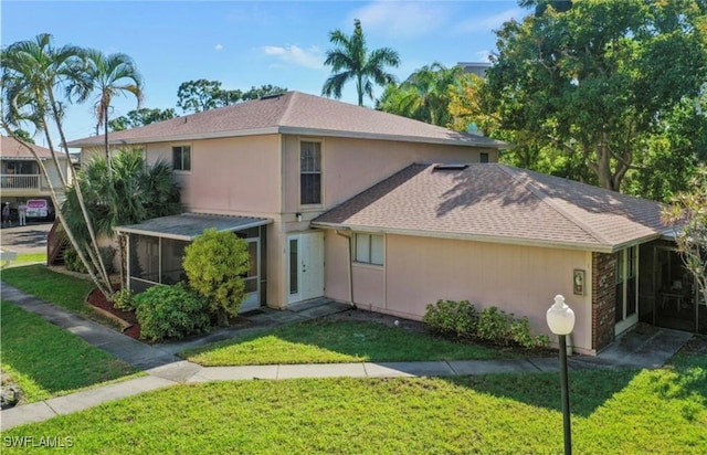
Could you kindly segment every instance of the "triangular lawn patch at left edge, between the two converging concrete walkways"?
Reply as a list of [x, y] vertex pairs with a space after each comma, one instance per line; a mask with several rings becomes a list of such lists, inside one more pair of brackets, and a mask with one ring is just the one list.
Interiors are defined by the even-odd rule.
[[1, 304], [2, 370], [34, 402], [75, 392], [136, 370], [40, 316], [8, 301]]

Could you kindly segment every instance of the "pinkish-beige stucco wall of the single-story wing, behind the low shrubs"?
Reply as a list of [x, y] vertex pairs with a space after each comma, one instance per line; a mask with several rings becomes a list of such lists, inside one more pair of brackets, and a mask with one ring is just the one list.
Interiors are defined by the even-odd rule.
[[[387, 235], [386, 251], [386, 305], [371, 309], [420, 319], [437, 299], [466, 299], [527, 316], [535, 334], [549, 335], [545, 314], [562, 294], [577, 317], [573, 346], [592, 351], [591, 292], [572, 294], [573, 269], [591, 276], [584, 252], [402, 235]], [[355, 296], [366, 292], [354, 283]]]

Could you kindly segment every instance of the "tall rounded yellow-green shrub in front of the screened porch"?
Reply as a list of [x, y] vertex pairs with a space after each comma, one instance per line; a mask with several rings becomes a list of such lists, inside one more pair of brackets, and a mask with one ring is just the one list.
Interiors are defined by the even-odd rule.
[[184, 248], [189, 285], [209, 300], [219, 325], [226, 325], [229, 316], [239, 314], [249, 262], [247, 242], [232, 232], [205, 230]]

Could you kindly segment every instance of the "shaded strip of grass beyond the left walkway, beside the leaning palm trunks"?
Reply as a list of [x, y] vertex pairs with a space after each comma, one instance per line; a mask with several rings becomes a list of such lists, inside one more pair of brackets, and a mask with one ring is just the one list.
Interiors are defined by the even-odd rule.
[[85, 304], [93, 282], [51, 271], [45, 265], [28, 265], [2, 271], [2, 281], [28, 294], [91, 318], [96, 313]]

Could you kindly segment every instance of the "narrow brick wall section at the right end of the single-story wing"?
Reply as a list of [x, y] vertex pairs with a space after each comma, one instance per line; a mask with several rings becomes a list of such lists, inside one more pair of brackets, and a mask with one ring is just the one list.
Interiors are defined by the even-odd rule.
[[614, 339], [615, 267], [614, 254], [592, 253], [592, 349], [597, 351]]

